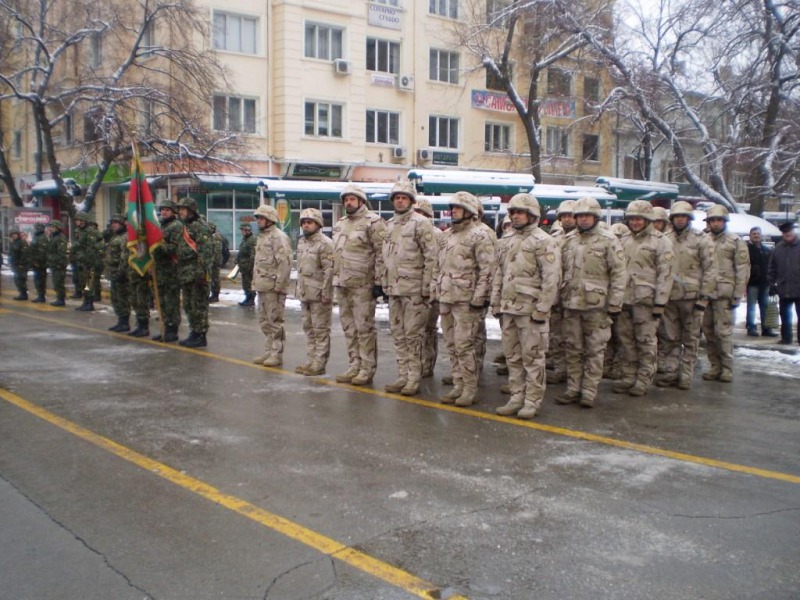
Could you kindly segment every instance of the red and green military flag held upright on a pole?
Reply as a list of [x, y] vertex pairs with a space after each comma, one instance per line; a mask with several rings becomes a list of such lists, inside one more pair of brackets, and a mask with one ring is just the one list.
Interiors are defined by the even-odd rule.
[[153, 264], [153, 249], [162, 241], [153, 195], [134, 149], [128, 195], [128, 264], [142, 277]]

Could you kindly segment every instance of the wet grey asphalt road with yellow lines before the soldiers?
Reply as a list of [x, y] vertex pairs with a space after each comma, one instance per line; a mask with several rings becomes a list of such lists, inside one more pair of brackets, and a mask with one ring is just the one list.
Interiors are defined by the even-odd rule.
[[494, 417], [488, 364], [472, 410], [435, 402], [441, 357], [419, 398], [380, 391], [386, 323], [362, 391], [333, 382], [336, 318], [328, 375], [305, 378], [294, 310], [266, 369], [234, 302], [193, 352], [8, 283], [0, 598], [800, 598], [800, 373], [768, 353], [688, 393], [604, 382], [594, 410], [552, 386], [526, 425]]

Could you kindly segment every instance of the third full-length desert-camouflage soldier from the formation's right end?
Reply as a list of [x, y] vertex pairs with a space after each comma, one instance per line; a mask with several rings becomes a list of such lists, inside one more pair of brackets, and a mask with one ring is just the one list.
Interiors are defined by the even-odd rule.
[[631, 235], [623, 244], [628, 285], [617, 332], [622, 348], [622, 378], [615, 393], [644, 396], [656, 373], [658, 324], [672, 289], [672, 243], [652, 227], [653, 207], [634, 200], [625, 211]]

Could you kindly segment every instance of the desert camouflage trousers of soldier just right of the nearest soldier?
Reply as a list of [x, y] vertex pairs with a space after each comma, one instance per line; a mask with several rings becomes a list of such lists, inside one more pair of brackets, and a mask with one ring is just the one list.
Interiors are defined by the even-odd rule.
[[604, 310], [564, 311], [567, 390], [586, 400], [597, 397], [603, 378], [603, 357], [611, 338], [611, 318]]

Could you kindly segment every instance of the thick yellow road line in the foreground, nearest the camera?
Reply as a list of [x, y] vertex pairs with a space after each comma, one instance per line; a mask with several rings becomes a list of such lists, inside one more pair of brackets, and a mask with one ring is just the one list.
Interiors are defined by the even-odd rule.
[[[441, 597], [441, 590], [433, 583], [398, 569], [397, 567], [365, 554], [364, 552], [356, 550], [355, 548], [346, 546], [341, 542], [317, 533], [316, 531], [303, 527], [302, 525], [281, 517], [280, 515], [276, 515], [264, 510], [263, 508], [247, 502], [246, 500], [226, 494], [199, 479], [185, 475], [184, 473], [168, 467], [163, 463], [148, 458], [147, 456], [139, 454], [138, 452], [118, 444], [117, 442], [114, 442], [106, 437], [85, 429], [80, 425], [76, 425], [71, 421], [59, 417], [31, 402], [28, 402], [13, 392], [0, 388], [0, 398], [32, 415], [35, 415], [36, 417], [39, 417], [51, 425], [55, 425], [56, 427], [59, 427], [94, 446], [97, 446], [98, 448], [106, 450], [107, 452], [110, 452], [111, 454], [114, 454], [119, 458], [136, 465], [137, 467], [158, 475], [170, 483], [180, 486], [181, 488], [210, 500], [211, 502], [219, 504], [220, 506], [224, 506], [228, 510], [238, 513], [273, 531], [281, 533], [288, 538], [321, 552], [322, 554], [342, 561], [368, 575], [405, 590], [409, 594], [413, 594], [419, 598], [431, 600]], [[465, 600], [463, 596], [452, 596], [452, 598], [454, 600]]]

